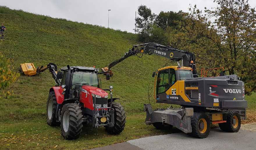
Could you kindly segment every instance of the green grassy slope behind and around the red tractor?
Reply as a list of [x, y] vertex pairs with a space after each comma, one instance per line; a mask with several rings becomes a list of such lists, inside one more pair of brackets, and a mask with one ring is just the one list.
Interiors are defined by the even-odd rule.
[[[20, 63], [32, 62], [35, 66], [56, 63], [59, 67], [69, 65], [104, 67], [120, 58], [136, 41], [136, 35], [95, 25], [53, 19], [22, 11], [0, 7], [4, 19], [6, 40], [0, 51]], [[3, 20], [1, 20], [3, 21]], [[113, 67], [110, 81], [102, 78], [102, 88], [114, 87], [114, 95], [127, 111], [127, 126], [117, 136], [85, 127], [82, 136], [74, 141], [63, 140], [59, 127], [46, 124], [46, 101], [48, 90], [54, 85], [49, 72], [37, 76], [21, 76], [15, 84], [15, 94], [10, 99], [0, 99], [0, 146], [3, 148], [87, 149], [123, 142], [141, 136], [174, 131], [157, 131], [144, 124], [143, 104], [148, 103], [147, 84], [153, 81], [151, 72], [162, 67], [163, 58], [136, 56], [127, 58]], [[255, 109], [256, 95], [247, 97], [250, 109]], [[154, 107], [166, 105], [155, 104]], [[13, 135], [12, 135], [13, 134]], [[39, 144], [38, 144], [39, 143]], [[38, 144], [38, 145], [37, 145]]]

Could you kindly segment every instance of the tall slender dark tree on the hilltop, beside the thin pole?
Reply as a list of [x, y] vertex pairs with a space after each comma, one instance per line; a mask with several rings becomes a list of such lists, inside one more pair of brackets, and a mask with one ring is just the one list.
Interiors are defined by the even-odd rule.
[[154, 22], [155, 14], [151, 12], [151, 9], [145, 5], [138, 7], [138, 17], [135, 19], [136, 30], [139, 34], [139, 41], [146, 42], [149, 37], [149, 30]]

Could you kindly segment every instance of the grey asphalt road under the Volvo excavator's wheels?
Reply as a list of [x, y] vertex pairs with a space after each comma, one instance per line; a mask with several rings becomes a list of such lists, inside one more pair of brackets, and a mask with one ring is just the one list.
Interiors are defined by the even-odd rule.
[[198, 139], [187, 134], [173, 133], [160, 136], [151, 136], [129, 140], [127, 142], [113, 144], [105, 147], [96, 148], [111, 150], [165, 150], [165, 149], [256, 149], [256, 131], [240, 129], [237, 133], [223, 132], [221, 129], [211, 129], [207, 138]]

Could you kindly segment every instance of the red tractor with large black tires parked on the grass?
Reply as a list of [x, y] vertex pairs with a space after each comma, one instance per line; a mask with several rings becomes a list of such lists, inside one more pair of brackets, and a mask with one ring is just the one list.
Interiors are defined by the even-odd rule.
[[[112, 89], [100, 89], [99, 69], [73, 66], [61, 68], [49, 63], [37, 68], [37, 72], [49, 69], [56, 86], [49, 90], [47, 100], [47, 124], [61, 125], [62, 136], [72, 140], [79, 137], [83, 124], [92, 127], [104, 126], [110, 134], [118, 134], [125, 127], [125, 110], [112, 97]], [[109, 75], [107, 75], [107, 80]], [[109, 91], [109, 94], [105, 91]]]

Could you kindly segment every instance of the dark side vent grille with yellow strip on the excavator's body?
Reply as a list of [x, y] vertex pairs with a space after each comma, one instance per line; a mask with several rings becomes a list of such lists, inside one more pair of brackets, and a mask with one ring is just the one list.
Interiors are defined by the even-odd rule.
[[186, 95], [190, 99], [198, 100], [198, 82], [186, 82]]

